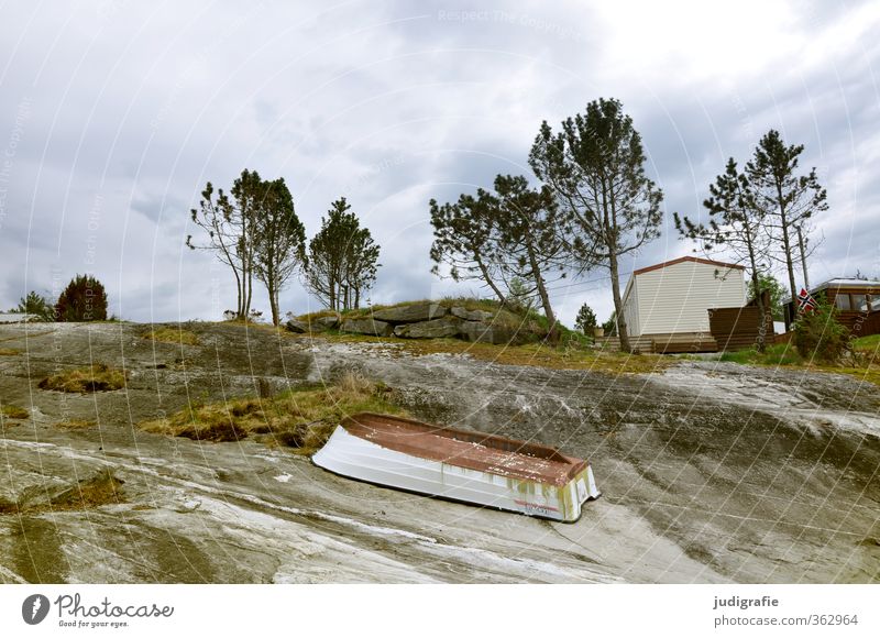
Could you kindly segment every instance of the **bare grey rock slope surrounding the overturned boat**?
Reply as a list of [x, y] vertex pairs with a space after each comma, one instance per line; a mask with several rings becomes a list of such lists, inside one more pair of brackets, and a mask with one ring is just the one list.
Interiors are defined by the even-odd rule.
[[[880, 581], [880, 391], [853, 377], [713, 361], [613, 376], [233, 324], [197, 323], [182, 346], [146, 329], [0, 326], [0, 402], [31, 411], [2, 420], [0, 582]], [[128, 387], [37, 388], [90, 362], [124, 366]], [[351, 369], [425, 420], [590, 458], [603, 497], [548, 522], [136, 426]], [[119, 502], [50, 505], [102, 476]]]

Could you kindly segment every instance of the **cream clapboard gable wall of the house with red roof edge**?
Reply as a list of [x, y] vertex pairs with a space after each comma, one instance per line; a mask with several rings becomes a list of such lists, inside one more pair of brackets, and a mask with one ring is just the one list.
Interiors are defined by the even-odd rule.
[[740, 268], [681, 262], [636, 275], [639, 334], [708, 332], [710, 308], [746, 302]]

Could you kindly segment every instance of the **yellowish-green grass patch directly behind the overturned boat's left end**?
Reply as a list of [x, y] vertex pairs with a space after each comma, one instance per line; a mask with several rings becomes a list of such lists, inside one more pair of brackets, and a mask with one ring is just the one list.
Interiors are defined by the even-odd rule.
[[197, 441], [240, 441], [258, 437], [265, 443], [311, 454], [349, 415], [373, 411], [406, 416], [395, 404], [395, 392], [382, 383], [346, 373], [332, 385], [294, 389], [272, 398], [194, 405], [167, 418], [145, 421], [140, 427], [148, 432]]

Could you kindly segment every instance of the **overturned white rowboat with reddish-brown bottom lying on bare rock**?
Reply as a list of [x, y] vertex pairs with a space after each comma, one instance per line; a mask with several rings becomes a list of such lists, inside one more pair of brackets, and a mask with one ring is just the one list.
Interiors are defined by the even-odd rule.
[[553, 448], [372, 413], [344, 419], [312, 461], [350, 479], [566, 522], [601, 494], [588, 462]]

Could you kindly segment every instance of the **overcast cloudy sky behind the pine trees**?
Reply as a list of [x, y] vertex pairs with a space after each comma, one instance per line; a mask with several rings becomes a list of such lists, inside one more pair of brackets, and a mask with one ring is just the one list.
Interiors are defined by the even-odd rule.
[[[673, 211], [703, 215], [770, 128], [828, 189], [812, 283], [880, 275], [880, 3], [548, 4], [3, 2], [0, 308], [89, 272], [123, 319], [219, 319], [234, 282], [185, 248], [188, 211], [245, 167], [286, 179], [309, 237], [348, 198], [382, 246], [373, 302], [485, 294], [430, 274], [428, 200], [531, 177], [541, 121], [600, 97], [622, 100], [666, 194], [666, 231], [622, 285], [691, 254]], [[606, 272], [570, 284], [563, 321], [583, 302], [607, 318]], [[282, 294], [315, 307], [298, 282]]]

